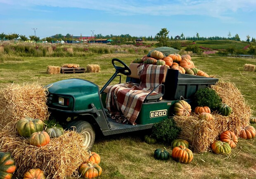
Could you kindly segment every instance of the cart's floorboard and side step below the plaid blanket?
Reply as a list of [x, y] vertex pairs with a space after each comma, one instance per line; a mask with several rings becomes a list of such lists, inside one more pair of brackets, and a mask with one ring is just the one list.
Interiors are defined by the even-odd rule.
[[140, 124], [131, 125], [131, 124], [123, 124], [121, 122], [116, 122], [112, 119], [109, 119], [109, 125], [111, 126], [111, 130], [102, 131], [105, 136], [112, 135], [112, 134], [121, 134], [125, 132], [133, 132], [137, 130], [151, 129], [153, 126], [153, 123], [147, 124], [147, 125], [140, 125]]

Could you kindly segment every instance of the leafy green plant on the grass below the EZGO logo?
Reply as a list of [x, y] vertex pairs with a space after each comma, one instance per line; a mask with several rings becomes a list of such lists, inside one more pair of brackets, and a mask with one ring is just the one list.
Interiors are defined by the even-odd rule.
[[152, 137], [160, 141], [171, 143], [173, 139], [178, 137], [180, 131], [180, 127], [176, 126], [173, 118], [167, 118], [153, 125]]

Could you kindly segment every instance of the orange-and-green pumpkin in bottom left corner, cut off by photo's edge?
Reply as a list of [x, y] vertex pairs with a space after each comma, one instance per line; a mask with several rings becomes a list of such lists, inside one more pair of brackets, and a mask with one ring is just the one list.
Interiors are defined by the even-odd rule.
[[0, 152], [0, 179], [11, 179], [15, 172], [15, 161], [10, 152]]

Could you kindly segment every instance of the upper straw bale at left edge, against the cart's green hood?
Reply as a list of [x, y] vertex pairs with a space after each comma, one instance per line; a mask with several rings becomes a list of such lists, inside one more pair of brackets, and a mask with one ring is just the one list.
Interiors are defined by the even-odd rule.
[[26, 116], [47, 120], [47, 90], [37, 83], [12, 84], [0, 89], [0, 129], [16, 131], [16, 123]]

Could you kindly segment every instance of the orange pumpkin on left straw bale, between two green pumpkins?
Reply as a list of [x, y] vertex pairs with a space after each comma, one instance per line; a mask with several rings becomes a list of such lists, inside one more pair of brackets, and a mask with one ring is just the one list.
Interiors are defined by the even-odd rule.
[[50, 136], [47, 132], [34, 132], [29, 138], [29, 144], [32, 146], [42, 147], [50, 142]]

